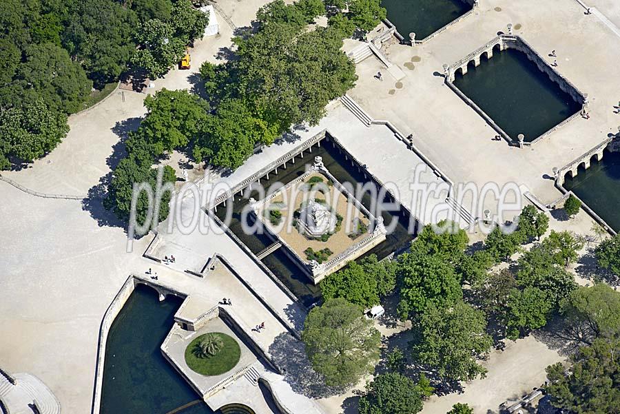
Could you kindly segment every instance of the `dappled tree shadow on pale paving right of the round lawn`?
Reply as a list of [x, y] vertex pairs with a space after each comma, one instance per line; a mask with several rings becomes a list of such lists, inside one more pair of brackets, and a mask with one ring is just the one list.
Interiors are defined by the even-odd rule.
[[269, 346], [271, 359], [282, 369], [286, 382], [293, 391], [310, 398], [324, 398], [342, 394], [344, 387], [324, 384], [324, 377], [314, 371], [306, 355], [304, 344], [289, 333], [280, 333]]

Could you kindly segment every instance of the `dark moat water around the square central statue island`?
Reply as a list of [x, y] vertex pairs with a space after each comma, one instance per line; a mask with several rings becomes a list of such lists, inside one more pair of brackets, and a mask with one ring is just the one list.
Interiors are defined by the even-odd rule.
[[[314, 147], [311, 153], [305, 152], [303, 158], [297, 156], [295, 165], [289, 163], [287, 169], [278, 168], [278, 175], [270, 174], [269, 180], [261, 179], [261, 185], [268, 188], [269, 185], [278, 181], [283, 184], [288, 183], [303, 174], [306, 171], [306, 166], [313, 163], [315, 156], [322, 156], [325, 167], [327, 167], [329, 172], [340, 181], [340, 183], [351, 183], [355, 188], [357, 183], [363, 184], [369, 181], [369, 179], [364, 178], [362, 172], [358, 172], [357, 167], [351, 166], [351, 162], [347, 161], [343, 154], [340, 154], [338, 147], [335, 146], [333, 141], [323, 140], [321, 141], [320, 148]], [[256, 193], [251, 194], [251, 196], [254, 196], [257, 200], [257, 197], [260, 197]], [[265, 234], [248, 235], [242, 231], [241, 211], [247, 205], [248, 201], [249, 196], [247, 196], [245, 192], [243, 196], [235, 196], [233, 218], [229, 227], [253, 253], [258, 253], [262, 249], [265, 249], [265, 247], [271, 245], [272, 242]], [[362, 197], [362, 204], [372, 211], [371, 196], [368, 193], [364, 194]], [[223, 205], [218, 207], [216, 214], [220, 220], [224, 220], [225, 208], [223, 208]], [[410, 216], [406, 210], [401, 209], [401, 211], [394, 214], [383, 213], [382, 216], [386, 227], [392, 220], [397, 220], [397, 227], [392, 234], [386, 237], [386, 241], [371, 249], [371, 251], [367, 252], [364, 256], [374, 253], [380, 259], [385, 258], [394, 251], [398, 251], [409, 245], [409, 242], [413, 239], [413, 235], [409, 234], [409, 231], [407, 231]], [[275, 274], [304, 305], [309, 306], [320, 299], [320, 287], [312, 284], [304, 272], [282, 252], [282, 249], [278, 249], [274, 253], [271, 253], [269, 256], [262, 259], [262, 262], [271, 269], [273, 274]]]

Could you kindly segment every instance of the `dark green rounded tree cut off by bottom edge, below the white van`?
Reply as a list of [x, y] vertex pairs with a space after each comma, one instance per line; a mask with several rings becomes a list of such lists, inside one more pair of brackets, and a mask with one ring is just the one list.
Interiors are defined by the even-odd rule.
[[422, 395], [415, 383], [399, 373], [378, 375], [360, 398], [360, 414], [416, 414]]

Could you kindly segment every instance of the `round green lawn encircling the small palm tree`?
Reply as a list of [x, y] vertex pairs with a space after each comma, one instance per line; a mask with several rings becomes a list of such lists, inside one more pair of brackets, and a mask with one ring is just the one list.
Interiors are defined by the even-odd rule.
[[[203, 352], [201, 344], [211, 335], [211, 342], [220, 344], [220, 349], [213, 355]], [[211, 349], [211, 351], [214, 351]], [[221, 375], [235, 367], [241, 357], [241, 348], [230, 335], [221, 332], [209, 332], [200, 335], [185, 348], [185, 363], [192, 371], [202, 375]]]

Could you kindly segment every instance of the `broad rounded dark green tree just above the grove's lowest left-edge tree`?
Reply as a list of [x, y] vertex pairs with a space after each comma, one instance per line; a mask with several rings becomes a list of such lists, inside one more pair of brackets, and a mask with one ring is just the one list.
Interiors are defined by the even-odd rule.
[[[53, 43], [25, 48], [25, 61], [17, 69], [16, 82], [23, 88], [24, 103], [43, 99], [51, 109], [71, 114], [82, 109], [90, 82], [80, 64]], [[18, 105], [16, 105], [18, 106]]]

